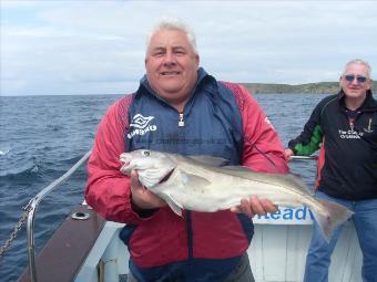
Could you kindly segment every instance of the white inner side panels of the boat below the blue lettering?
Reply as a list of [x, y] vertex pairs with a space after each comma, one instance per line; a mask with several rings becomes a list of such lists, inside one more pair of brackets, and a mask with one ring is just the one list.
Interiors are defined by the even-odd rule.
[[[122, 227], [123, 224], [114, 222], [105, 223], [75, 282], [100, 281], [99, 263], [104, 281], [119, 281], [119, 274], [129, 272], [129, 252], [118, 237]], [[284, 224], [256, 220], [255, 234], [247, 251], [255, 281], [303, 281], [312, 232], [310, 221]], [[354, 224], [347, 222], [333, 253], [329, 281], [361, 281], [361, 261]]]

